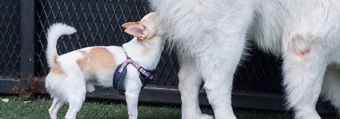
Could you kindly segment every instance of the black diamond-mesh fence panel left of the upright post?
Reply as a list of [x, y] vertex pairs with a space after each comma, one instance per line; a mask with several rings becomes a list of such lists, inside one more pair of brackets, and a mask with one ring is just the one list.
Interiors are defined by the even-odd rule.
[[0, 77], [18, 77], [20, 72], [20, 3], [0, 1]]

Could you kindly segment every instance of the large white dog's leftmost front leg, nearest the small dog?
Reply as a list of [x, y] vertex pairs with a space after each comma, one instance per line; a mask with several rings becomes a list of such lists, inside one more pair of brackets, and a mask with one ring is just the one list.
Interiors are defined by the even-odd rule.
[[182, 119], [213, 119], [212, 116], [202, 114], [198, 102], [198, 94], [202, 79], [193, 62], [181, 61], [178, 74], [179, 90], [182, 100]]

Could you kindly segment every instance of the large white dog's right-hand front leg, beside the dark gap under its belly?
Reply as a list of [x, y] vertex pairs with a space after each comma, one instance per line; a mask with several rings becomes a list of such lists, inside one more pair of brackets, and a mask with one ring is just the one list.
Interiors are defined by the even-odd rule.
[[[244, 42], [234, 45], [242, 47]], [[214, 57], [217, 55], [214, 54], [214, 50], [207, 50], [211, 51], [209, 54], [213, 54], [212, 57], [200, 60], [204, 88], [216, 119], [236, 119], [232, 109], [231, 93], [233, 75], [240, 61], [242, 48], [229, 48], [233, 48], [232, 52], [226, 48], [227, 50], [219, 52], [222, 56], [218, 57]]]

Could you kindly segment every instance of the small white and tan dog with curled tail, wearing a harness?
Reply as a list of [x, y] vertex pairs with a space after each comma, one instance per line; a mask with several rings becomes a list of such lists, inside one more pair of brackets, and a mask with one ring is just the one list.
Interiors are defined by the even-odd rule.
[[[154, 70], [164, 49], [164, 41], [157, 32], [157, 14], [149, 13], [140, 22], [122, 25], [125, 32], [135, 36], [130, 42], [119, 46], [93, 46], [58, 55], [57, 39], [76, 32], [75, 28], [63, 23], [52, 24], [47, 33], [47, 62], [50, 73], [45, 86], [53, 98], [49, 109], [51, 119], [57, 119], [59, 108], [69, 104], [65, 119], [75, 119], [86, 92], [95, 91], [96, 81], [104, 87], [113, 87], [113, 75], [117, 66], [127, 56], [145, 69]], [[133, 65], [127, 66], [124, 80], [129, 119], [137, 119], [138, 95], [142, 86], [139, 72]]]

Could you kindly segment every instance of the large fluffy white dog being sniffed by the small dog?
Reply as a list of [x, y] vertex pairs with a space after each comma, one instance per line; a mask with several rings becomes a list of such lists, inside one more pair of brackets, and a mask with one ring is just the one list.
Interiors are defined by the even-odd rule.
[[[233, 74], [246, 35], [282, 58], [287, 108], [321, 119], [320, 96], [340, 108], [339, 0], [150, 0], [181, 59], [182, 119], [212, 119], [198, 103], [203, 81], [216, 119], [236, 119]], [[339, 111], [338, 111], [339, 112]]]

